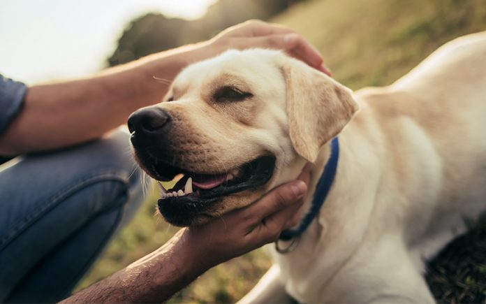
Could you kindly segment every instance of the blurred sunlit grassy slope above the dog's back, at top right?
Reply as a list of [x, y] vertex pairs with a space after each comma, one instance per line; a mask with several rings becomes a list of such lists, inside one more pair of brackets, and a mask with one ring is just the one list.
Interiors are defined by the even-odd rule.
[[389, 84], [446, 41], [486, 30], [486, 1], [309, 1], [274, 21], [307, 37], [334, 77], [358, 89]]

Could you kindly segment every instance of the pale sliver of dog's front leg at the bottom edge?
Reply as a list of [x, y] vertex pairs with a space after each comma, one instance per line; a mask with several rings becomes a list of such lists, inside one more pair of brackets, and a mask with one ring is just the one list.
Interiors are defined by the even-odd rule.
[[295, 303], [295, 300], [286, 294], [280, 267], [274, 264], [238, 303]]

